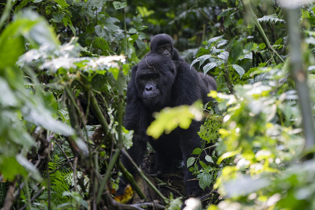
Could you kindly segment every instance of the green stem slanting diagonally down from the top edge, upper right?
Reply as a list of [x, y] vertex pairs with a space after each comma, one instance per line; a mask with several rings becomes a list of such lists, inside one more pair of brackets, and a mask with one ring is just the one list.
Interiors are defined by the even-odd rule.
[[[243, 4], [243, 7], [244, 7], [244, 11], [246, 13], [249, 14], [249, 16], [251, 17], [252, 21], [254, 22], [257, 30], [258, 30], [258, 33], [260, 34], [261, 38], [263, 39], [264, 43], [266, 44], [267, 48], [269, 51], [272, 52], [272, 54], [275, 54], [279, 60], [281, 60], [282, 63], [284, 63], [284, 60], [281, 58], [281, 56], [277, 53], [277, 51], [271, 46], [267, 36], [266, 36], [266, 33], [265, 31], [262, 29], [258, 19], [257, 19], [257, 16], [254, 14], [254, 11], [253, 9], [251, 8], [251, 5], [250, 5], [250, 1], [249, 0], [241, 0], [242, 4]], [[274, 59], [274, 57], [272, 56], [273, 60], [275, 63], [276, 60]]]

